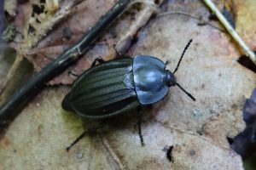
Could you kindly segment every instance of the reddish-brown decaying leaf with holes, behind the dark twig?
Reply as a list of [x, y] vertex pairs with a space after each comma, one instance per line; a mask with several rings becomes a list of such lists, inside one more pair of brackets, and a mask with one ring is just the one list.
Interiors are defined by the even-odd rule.
[[[42, 3], [33, 2], [20, 5], [21, 11], [29, 11], [30, 9], [30, 12], [26, 14], [20, 12], [16, 19], [17, 27], [25, 37], [21, 50], [22, 54], [32, 62], [36, 71], [40, 71], [52, 59], [77, 42], [84, 32], [90, 30], [100, 16], [105, 14], [113, 5], [111, 0], [107, 2], [84, 1], [81, 3], [76, 1], [68, 6], [67, 3], [69, 4], [70, 1], [60, 3], [59, 10], [55, 13], [50, 13], [46, 8], [47, 5]], [[63, 10], [64, 12], [61, 12]], [[122, 32], [129, 29], [131, 21], [134, 20], [132, 17], [136, 18], [137, 11], [135, 8], [130, 11], [131, 14], [126, 14], [127, 17], [123, 16], [122, 21], [117, 22], [117, 26], [110, 28], [98, 42], [91, 46], [84, 58], [80, 59], [78, 64], [68, 71], [80, 74], [90, 66], [93, 59], [108, 55], [109, 49], [113, 48], [113, 44], [118, 41]], [[26, 20], [22, 23], [20, 20], [23, 18]], [[65, 22], [63, 18], [65, 18]], [[48, 31], [49, 35], [46, 37]], [[68, 71], [50, 81], [49, 84], [71, 84], [73, 77], [69, 76]]]

